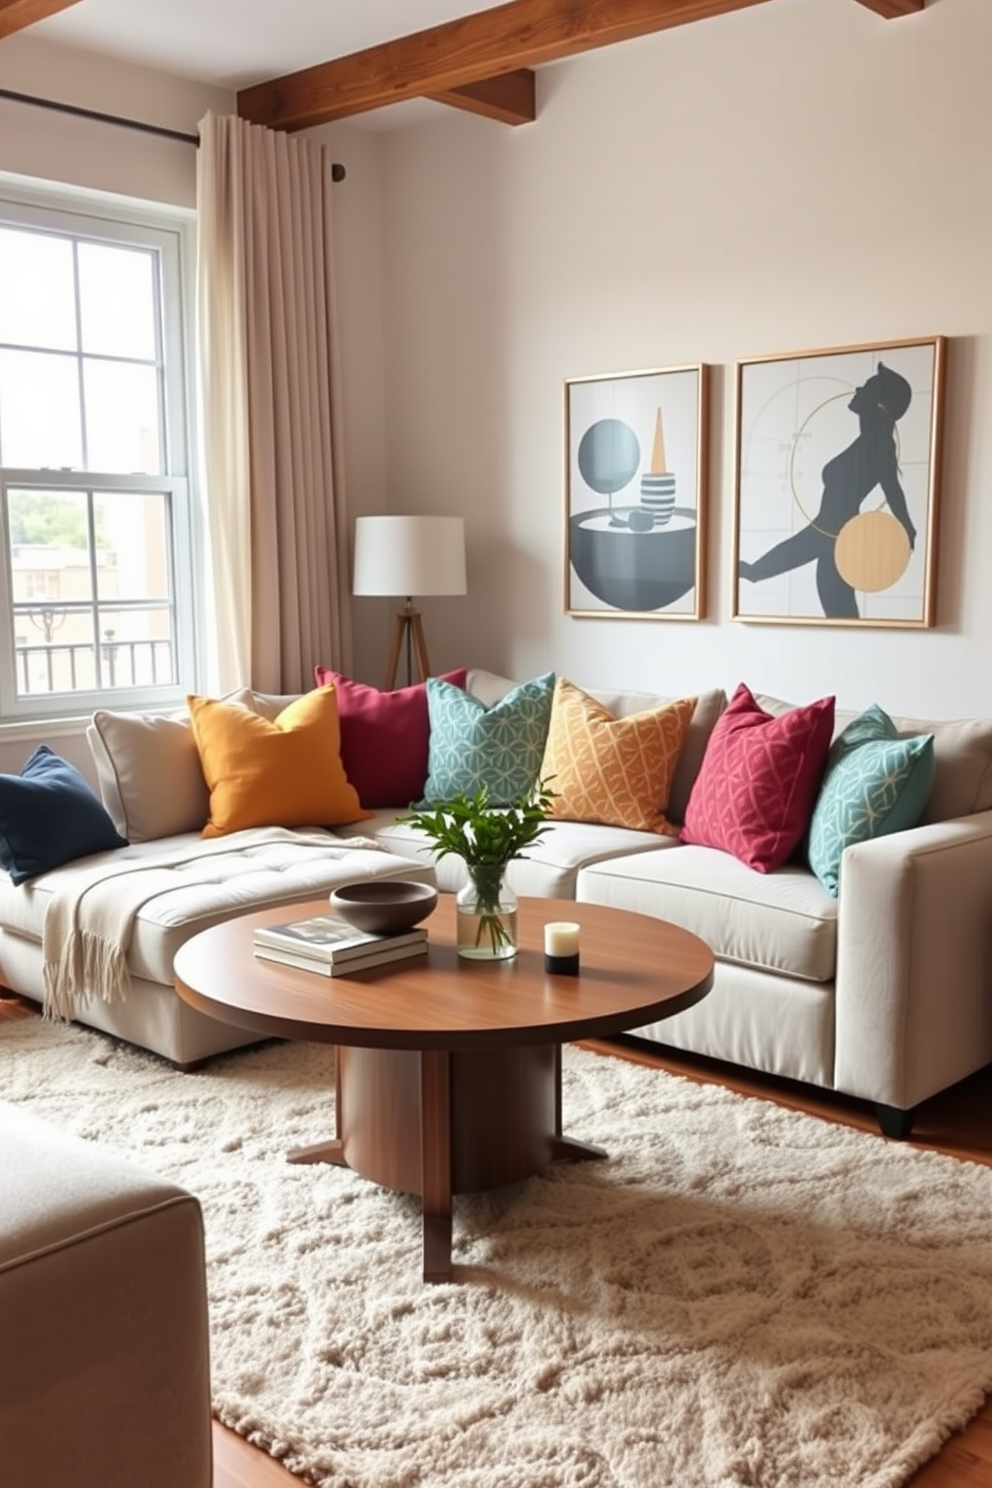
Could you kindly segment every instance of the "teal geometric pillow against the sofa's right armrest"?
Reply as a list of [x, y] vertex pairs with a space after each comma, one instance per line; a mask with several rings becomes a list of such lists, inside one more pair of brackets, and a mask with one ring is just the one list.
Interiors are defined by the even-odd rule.
[[916, 826], [933, 784], [933, 734], [900, 738], [876, 704], [846, 726], [830, 747], [809, 823], [809, 866], [828, 894], [837, 897], [843, 850]]

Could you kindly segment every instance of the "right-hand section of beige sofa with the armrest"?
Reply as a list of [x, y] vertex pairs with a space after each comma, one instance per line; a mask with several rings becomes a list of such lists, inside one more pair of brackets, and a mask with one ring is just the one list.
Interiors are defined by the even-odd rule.
[[[486, 704], [512, 686], [468, 674]], [[619, 717], [663, 701], [589, 692]], [[788, 707], [759, 701], [770, 713]], [[720, 690], [699, 693], [672, 781], [675, 821], [724, 704]], [[836, 732], [852, 717], [839, 711]], [[556, 821], [512, 865], [513, 887], [702, 936], [717, 955], [712, 991], [640, 1036], [860, 1097], [876, 1104], [883, 1131], [906, 1135], [913, 1107], [992, 1061], [992, 720], [894, 722], [934, 735], [930, 802], [918, 827], [848, 848], [837, 899], [796, 863], [759, 873], [715, 848], [574, 821]], [[391, 818], [361, 830], [427, 860], [416, 833]], [[464, 868], [446, 859], [437, 875], [457, 890]]]

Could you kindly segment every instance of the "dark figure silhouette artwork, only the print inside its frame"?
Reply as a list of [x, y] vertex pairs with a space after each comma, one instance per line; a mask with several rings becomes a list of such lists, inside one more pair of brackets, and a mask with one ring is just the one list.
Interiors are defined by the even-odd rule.
[[[882, 616], [879, 623], [915, 620], [912, 613], [903, 616], [903, 604], [907, 610], [910, 606], [927, 610], [927, 598], [910, 592], [922, 586], [921, 565], [915, 564], [904, 577], [918, 548], [918, 528], [930, 531], [933, 470], [921, 470], [919, 457], [925, 449], [933, 461], [938, 342], [921, 344], [921, 351], [925, 350], [933, 353], [931, 376], [925, 372], [918, 376], [918, 363], [924, 365], [919, 357], [903, 359], [910, 373], [903, 375], [889, 365], [900, 360], [898, 356], [889, 360], [872, 356], [866, 366], [864, 356], [839, 353], [793, 360], [793, 375], [782, 375], [778, 384], [773, 375], [756, 382], [745, 409], [750, 420], [745, 437], [751, 439], [751, 448], [742, 463], [742, 500], [747, 485], [751, 504], [742, 509], [735, 574], [742, 618], [756, 613], [751, 586], [759, 589], [799, 570], [809, 570], [811, 579], [788, 591], [778, 586], [775, 613], [812, 619], [818, 601], [828, 620], [858, 620], [863, 618], [861, 595], [886, 591], [891, 594], [885, 604], [876, 604], [872, 612]], [[763, 363], [761, 371], [767, 366]], [[843, 387], [840, 373], [845, 372], [848, 390], [837, 393], [833, 388], [839, 382]], [[787, 418], [793, 423], [784, 427]], [[912, 424], [909, 440], [900, 434], [900, 420]], [[909, 494], [901, 469], [907, 443], [912, 451]], [[803, 524], [788, 531], [796, 515]], [[784, 527], [787, 536], [770, 540]], [[782, 612], [784, 604], [788, 609]], [[803, 615], [803, 606], [814, 613]], [[919, 619], [928, 623], [925, 613]]]

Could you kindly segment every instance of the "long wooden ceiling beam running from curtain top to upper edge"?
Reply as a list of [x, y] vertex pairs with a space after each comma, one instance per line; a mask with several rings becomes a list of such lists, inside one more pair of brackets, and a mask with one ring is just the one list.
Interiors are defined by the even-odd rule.
[[501, 73], [556, 62], [598, 46], [766, 3], [510, 0], [492, 10], [256, 83], [238, 94], [238, 113], [242, 119], [275, 129], [306, 129], [408, 98], [436, 98]]

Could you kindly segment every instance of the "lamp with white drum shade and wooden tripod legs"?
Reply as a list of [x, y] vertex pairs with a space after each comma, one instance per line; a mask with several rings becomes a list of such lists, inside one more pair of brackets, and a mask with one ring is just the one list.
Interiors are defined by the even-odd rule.
[[466, 524], [461, 516], [358, 516], [351, 592], [406, 597], [393, 626], [385, 690], [396, 686], [403, 649], [408, 684], [413, 680], [413, 656], [421, 682], [425, 682], [431, 670], [413, 595], [466, 592]]

